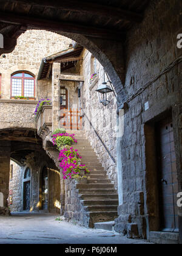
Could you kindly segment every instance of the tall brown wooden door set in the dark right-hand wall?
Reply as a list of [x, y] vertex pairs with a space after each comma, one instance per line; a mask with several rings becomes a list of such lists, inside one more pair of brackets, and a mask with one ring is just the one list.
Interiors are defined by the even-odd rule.
[[158, 123], [157, 137], [161, 230], [178, 232], [177, 165], [172, 119]]

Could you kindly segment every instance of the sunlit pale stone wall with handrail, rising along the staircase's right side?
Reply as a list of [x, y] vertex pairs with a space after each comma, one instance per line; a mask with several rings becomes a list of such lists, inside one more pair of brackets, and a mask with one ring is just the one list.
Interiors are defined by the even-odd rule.
[[[104, 107], [98, 98], [97, 90], [104, 80], [107, 82], [107, 76], [104, 77], [104, 68], [96, 60], [95, 71], [97, 77], [90, 84], [90, 78], [93, 74], [93, 55], [86, 49], [83, 52], [83, 65], [81, 66], [81, 75], [84, 77], [84, 84], [81, 88], [81, 107], [83, 112], [86, 113], [88, 118], [93, 124], [94, 129], [98, 132], [99, 137], [103, 140], [103, 143], [109, 149], [110, 154], [116, 160], [116, 98], [113, 93], [108, 94], [108, 100], [110, 104]], [[108, 83], [109, 84], [109, 83]], [[89, 121], [86, 117], [83, 119], [84, 130], [86, 135], [92, 144], [93, 149], [98, 155], [103, 167], [107, 170], [109, 178], [115, 183], [117, 187], [117, 171], [116, 163], [110, 158], [106, 149], [101, 141], [96, 136], [93, 128], [90, 127]]]

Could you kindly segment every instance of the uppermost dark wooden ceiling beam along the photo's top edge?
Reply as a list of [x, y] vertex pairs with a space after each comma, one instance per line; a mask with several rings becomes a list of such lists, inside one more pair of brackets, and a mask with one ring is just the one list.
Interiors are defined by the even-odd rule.
[[127, 20], [134, 23], [140, 23], [143, 20], [143, 15], [132, 12], [130, 10], [121, 9], [120, 7], [113, 7], [104, 4], [96, 4], [87, 1], [79, 0], [11, 0], [20, 4], [39, 5], [44, 7], [68, 10], [71, 12], [88, 13], [92, 15], [105, 16], [107, 18], [114, 18], [115, 20]]

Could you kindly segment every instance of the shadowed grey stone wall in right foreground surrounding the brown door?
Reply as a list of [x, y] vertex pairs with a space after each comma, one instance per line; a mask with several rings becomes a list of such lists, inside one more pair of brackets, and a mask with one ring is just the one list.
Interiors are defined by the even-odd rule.
[[[182, 53], [177, 48], [177, 35], [181, 32], [180, 8], [180, 1], [150, 2], [143, 23], [130, 30], [126, 41], [125, 89], [129, 110], [125, 109], [124, 136], [118, 147], [122, 158], [119, 171], [122, 177], [120, 202], [123, 204], [118, 208], [120, 216], [116, 219], [115, 230], [130, 233], [126, 223], [135, 223], [139, 236], [143, 238], [149, 238], [149, 231], [160, 229], [158, 185], [155, 182], [157, 170], [149, 169], [151, 154], [155, 152], [152, 147], [146, 151], [144, 127], [149, 121], [155, 123], [165, 117], [167, 111], [172, 113], [179, 184], [181, 180], [178, 138], [181, 63], [175, 62]], [[171, 68], [167, 70], [169, 65]], [[166, 72], [163, 73], [164, 69]], [[146, 102], [149, 102], [149, 110], [144, 109]], [[152, 140], [151, 133], [150, 138]]]

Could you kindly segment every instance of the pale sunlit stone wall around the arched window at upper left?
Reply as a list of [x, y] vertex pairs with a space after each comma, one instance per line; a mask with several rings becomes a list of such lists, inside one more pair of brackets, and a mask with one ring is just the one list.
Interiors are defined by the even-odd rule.
[[[17, 41], [15, 50], [0, 57], [1, 96], [10, 99], [10, 78], [16, 71], [29, 71], [38, 76], [43, 58], [69, 48], [72, 40], [45, 30], [27, 30]], [[36, 81], [36, 99], [52, 96], [51, 82]]]

